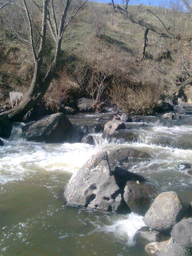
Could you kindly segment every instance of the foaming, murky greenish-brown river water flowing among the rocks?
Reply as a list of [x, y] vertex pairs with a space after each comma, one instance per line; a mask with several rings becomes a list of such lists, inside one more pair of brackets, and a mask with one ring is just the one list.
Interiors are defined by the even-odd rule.
[[[94, 125], [103, 114], [69, 116], [72, 124]], [[0, 148], [0, 255], [18, 256], [142, 256], [134, 242], [143, 217], [92, 212], [66, 207], [62, 189], [71, 175], [94, 153], [129, 147], [151, 154], [152, 160], [131, 166], [160, 191], [175, 191], [187, 207], [192, 200], [192, 176], [175, 168], [192, 163], [192, 150], [155, 145], [158, 139], [175, 145], [192, 143], [192, 116], [182, 120], [145, 117], [127, 123], [139, 134], [132, 144], [108, 143], [94, 134], [96, 146], [84, 143], [35, 143], [22, 139], [22, 125]], [[104, 126], [104, 123], [101, 123]]]

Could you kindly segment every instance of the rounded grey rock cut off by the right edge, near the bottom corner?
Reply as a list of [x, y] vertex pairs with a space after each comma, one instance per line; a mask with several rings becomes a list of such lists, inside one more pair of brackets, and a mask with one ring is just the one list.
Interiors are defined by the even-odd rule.
[[182, 220], [173, 226], [171, 231], [173, 241], [192, 248], [192, 218]]

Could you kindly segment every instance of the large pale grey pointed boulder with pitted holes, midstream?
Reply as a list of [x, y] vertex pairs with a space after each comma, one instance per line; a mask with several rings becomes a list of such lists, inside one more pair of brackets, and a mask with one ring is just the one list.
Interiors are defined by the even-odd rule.
[[93, 155], [73, 174], [64, 188], [64, 198], [69, 206], [103, 212], [130, 211], [111, 173], [107, 152]]

